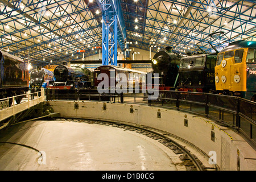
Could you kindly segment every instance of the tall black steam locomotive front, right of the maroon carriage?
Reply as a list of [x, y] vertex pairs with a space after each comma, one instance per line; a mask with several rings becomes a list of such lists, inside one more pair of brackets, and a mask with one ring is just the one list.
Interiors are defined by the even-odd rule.
[[159, 90], [174, 90], [182, 55], [172, 52], [172, 47], [164, 49], [154, 55], [151, 63], [152, 69], [153, 73], [159, 74]]

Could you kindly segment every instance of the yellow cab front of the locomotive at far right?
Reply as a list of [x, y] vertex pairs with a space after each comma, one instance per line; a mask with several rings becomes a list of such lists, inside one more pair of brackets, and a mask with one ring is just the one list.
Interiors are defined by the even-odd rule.
[[247, 67], [248, 57], [251, 56], [247, 44], [246, 41], [230, 43], [218, 53], [215, 67], [215, 85], [218, 92], [246, 98], [246, 92], [250, 89]]

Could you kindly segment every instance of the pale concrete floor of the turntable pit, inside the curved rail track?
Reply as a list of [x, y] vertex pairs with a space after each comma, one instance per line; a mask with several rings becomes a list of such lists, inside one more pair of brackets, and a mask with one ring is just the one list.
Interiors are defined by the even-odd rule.
[[185, 170], [157, 140], [117, 127], [31, 121], [0, 133], [0, 170]]

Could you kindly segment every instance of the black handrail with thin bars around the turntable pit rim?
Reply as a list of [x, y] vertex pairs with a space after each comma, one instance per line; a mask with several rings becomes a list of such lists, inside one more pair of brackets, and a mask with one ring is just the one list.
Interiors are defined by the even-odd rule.
[[[182, 110], [182, 111], [188, 111], [191, 112], [191, 110], [186, 110], [184, 108], [181, 108], [181, 105], [183, 103], [185, 104], [191, 104], [191, 105], [197, 105], [197, 107], [201, 106], [205, 108], [203, 115], [205, 117], [210, 117], [213, 119], [216, 119], [216, 121], [220, 121], [221, 123], [226, 123], [227, 126], [233, 127], [237, 130], [243, 131], [243, 133], [246, 133], [246, 130], [249, 131], [249, 139], [255, 143], [255, 138], [253, 138], [253, 133], [256, 132], [256, 121], [254, 118], [256, 118], [255, 113], [250, 113], [252, 116], [249, 117], [248, 113], [243, 113], [243, 111], [240, 109], [240, 102], [243, 102], [243, 104], [247, 104], [250, 108], [256, 108], [256, 102], [245, 100], [244, 98], [240, 97], [234, 97], [234, 96], [223, 96], [223, 95], [217, 95], [217, 94], [210, 94], [210, 93], [199, 93], [199, 92], [180, 92], [180, 91], [172, 91], [172, 90], [158, 90], [160, 97], [156, 100], [144, 100], [144, 102], [138, 102], [138, 98], [146, 98], [147, 96], [141, 96], [141, 94], [133, 93], [129, 94], [129, 90], [127, 90], [128, 94], [123, 93], [110, 93], [110, 90], [113, 89], [105, 89], [106, 91], [109, 91], [108, 93], [99, 94], [97, 89], [75, 89], [70, 90], [72, 92], [73, 98], [69, 96], [70, 100], [86, 100], [86, 97], [89, 97], [87, 100], [97, 100], [97, 101], [109, 101], [109, 102], [120, 102], [120, 103], [133, 103], [133, 104], [147, 104], [148, 106], [157, 106], [159, 107], [159, 103], [162, 104], [162, 107], [164, 108], [170, 108], [170, 109], [176, 109], [176, 110]], [[140, 90], [140, 93], [144, 93], [145, 90]], [[50, 94], [50, 92], [55, 93], [56, 96], [61, 96], [61, 94], [64, 91], [61, 89], [46, 89], [46, 96], [47, 100], [54, 100], [53, 96]], [[65, 91], [67, 92], [67, 90]], [[170, 98], [167, 97], [167, 93], [170, 93]], [[144, 94], [145, 95], [145, 94]], [[51, 96], [51, 97], [49, 97]], [[94, 98], [93, 98], [94, 97]], [[134, 97], [134, 101], [124, 101], [124, 98], [132, 98]], [[110, 99], [112, 98], [112, 100]], [[199, 99], [202, 100], [199, 100]], [[209, 98], [211, 101], [209, 101]], [[65, 99], [63, 99], [65, 100]], [[170, 106], [165, 101], [170, 101], [175, 104]], [[191, 106], [192, 107], [192, 106]], [[191, 107], [189, 109], [191, 109]], [[209, 111], [210, 109], [219, 111], [219, 118], [216, 118], [216, 115], [213, 115], [213, 111]], [[193, 113], [196, 113], [194, 111]], [[224, 118], [224, 113], [226, 115], [233, 114], [233, 123], [230, 123], [229, 119]], [[199, 114], [199, 113], [197, 113]], [[202, 114], [201, 114], [202, 115]], [[254, 117], [255, 115], [255, 117]], [[247, 122], [250, 124], [250, 129], [241, 127], [241, 118], [243, 119], [243, 122]]]

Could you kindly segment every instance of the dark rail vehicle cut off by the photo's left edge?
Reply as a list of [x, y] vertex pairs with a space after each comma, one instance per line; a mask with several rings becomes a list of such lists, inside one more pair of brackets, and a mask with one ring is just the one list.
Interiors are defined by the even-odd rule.
[[[18, 96], [28, 91], [28, 69], [19, 57], [0, 51], [0, 99], [9, 98], [9, 106], [13, 103], [12, 96]], [[15, 97], [17, 104], [24, 96]]]

